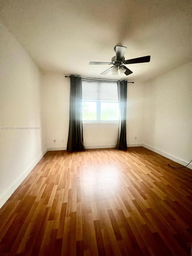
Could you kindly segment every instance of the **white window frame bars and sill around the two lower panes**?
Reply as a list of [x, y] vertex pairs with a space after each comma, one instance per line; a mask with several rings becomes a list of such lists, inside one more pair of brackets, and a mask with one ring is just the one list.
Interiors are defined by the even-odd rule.
[[101, 102], [118, 103], [118, 101], [96, 101], [96, 100], [82, 100], [83, 102], [96, 102], [96, 117], [97, 120], [82, 120], [83, 124], [119, 124], [119, 120], [101, 120]]

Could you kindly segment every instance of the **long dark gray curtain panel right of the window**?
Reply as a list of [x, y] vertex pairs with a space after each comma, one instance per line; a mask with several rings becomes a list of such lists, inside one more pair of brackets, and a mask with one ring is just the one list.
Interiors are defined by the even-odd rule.
[[127, 150], [127, 81], [117, 81], [117, 91], [119, 99], [119, 133], [116, 149]]

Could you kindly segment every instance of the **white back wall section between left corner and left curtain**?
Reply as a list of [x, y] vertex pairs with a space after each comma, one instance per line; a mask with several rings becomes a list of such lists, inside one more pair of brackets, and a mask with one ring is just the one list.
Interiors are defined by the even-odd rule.
[[[44, 116], [49, 150], [67, 148], [69, 131], [70, 79], [64, 74], [45, 72], [43, 74]], [[61, 140], [64, 139], [64, 143]], [[56, 143], [53, 141], [56, 140]]]

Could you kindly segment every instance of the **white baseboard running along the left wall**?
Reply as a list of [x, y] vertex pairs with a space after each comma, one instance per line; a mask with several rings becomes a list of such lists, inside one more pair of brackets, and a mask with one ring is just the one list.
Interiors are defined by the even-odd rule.
[[27, 177], [27, 175], [33, 170], [35, 165], [41, 160], [41, 158], [46, 154], [47, 148], [44, 149], [37, 158], [19, 175], [19, 177], [3, 192], [0, 196], [0, 208], [9, 199], [13, 192], [19, 187], [21, 182]]

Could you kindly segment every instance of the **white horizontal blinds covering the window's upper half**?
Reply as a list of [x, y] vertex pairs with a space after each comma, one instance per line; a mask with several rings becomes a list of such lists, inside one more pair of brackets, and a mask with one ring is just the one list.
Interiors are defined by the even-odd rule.
[[118, 101], [117, 82], [82, 79], [82, 100]]

